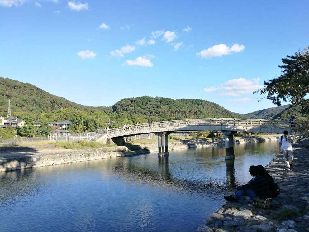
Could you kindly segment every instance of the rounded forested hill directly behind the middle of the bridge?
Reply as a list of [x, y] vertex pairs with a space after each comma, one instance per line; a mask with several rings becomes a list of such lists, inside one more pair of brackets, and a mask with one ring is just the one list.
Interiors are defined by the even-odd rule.
[[112, 106], [116, 113], [145, 115], [154, 121], [190, 118], [231, 118], [235, 115], [219, 106], [200, 99], [170, 99], [163, 97], [126, 98]]

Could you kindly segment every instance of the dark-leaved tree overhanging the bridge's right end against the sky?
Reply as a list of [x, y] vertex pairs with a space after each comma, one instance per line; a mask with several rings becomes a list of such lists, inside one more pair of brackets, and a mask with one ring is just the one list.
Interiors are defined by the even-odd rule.
[[[257, 92], [267, 94], [273, 104], [281, 105], [281, 100], [301, 104], [304, 112], [309, 113], [309, 47], [297, 51], [295, 56], [281, 59], [282, 74], [272, 80], [264, 81], [264, 87]], [[254, 92], [256, 93], [256, 92]]]

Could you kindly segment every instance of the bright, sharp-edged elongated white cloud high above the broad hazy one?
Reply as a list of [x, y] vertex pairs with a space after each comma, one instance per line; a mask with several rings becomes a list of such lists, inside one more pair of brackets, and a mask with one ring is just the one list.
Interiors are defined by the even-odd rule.
[[231, 47], [226, 46], [226, 44], [214, 45], [207, 50], [204, 49], [199, 53], [196, 53], [197, 56], [205, 59], [209, 59], [215, 56], [229, 55], [232, 53], [240, 52], [245, 49], [244, 45], [234, 44]]

